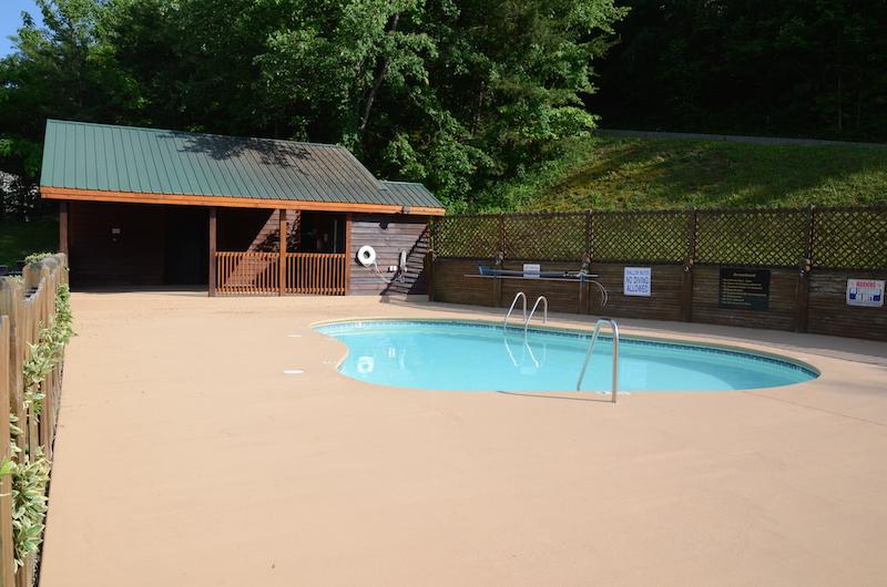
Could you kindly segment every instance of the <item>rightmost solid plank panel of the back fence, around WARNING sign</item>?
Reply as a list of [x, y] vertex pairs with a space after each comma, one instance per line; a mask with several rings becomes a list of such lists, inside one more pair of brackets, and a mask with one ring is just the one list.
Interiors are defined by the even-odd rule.
[[818, 271], [810, 274], [807, 330], [870, 340], [887, 340], [887, 306], [847, 306], [847, 279], [884, 279], [887, 271]]

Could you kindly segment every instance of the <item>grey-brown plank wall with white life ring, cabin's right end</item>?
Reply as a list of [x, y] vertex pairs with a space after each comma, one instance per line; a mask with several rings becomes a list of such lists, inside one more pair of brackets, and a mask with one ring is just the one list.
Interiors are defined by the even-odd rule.
[[[349, 289], [351, 295], [425, 294], [425, 255], [428, 250], [427, 218], [402, 215], [353, 214], [348, 248]], [[376, 249], [377, 275], [371, 267], [357, 262], [357, 250], [370, 245]], [[397, 265], [401, 250], [407, 251], [404, 281], [391, 280], [388, 266]]]

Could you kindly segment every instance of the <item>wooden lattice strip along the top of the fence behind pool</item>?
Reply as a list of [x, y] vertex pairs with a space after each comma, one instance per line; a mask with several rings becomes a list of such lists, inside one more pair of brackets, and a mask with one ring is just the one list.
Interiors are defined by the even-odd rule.
[[438, 257], [887, 268], [887, 207], [587, 210], [436, 218]]

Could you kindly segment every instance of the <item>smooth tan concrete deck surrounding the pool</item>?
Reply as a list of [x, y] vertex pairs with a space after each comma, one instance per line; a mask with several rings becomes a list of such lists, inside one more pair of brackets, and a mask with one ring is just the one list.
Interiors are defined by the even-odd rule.
[[345, 346], [309, 328], [501, 309], [187, 291], [72, 303], [43, 587], [887, 576], [887, 343], [619, 320], [823, 375], [612, 405], [364, 384], [336, 372]]

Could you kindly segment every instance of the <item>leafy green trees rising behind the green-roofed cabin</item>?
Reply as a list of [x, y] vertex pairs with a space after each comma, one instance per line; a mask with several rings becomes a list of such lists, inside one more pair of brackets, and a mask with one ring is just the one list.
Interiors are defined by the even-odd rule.
[[38, 0], [0, 61], [0, 166], [47, 117], [341, 143], [455, 208], [597, 117], [613, 0]]

